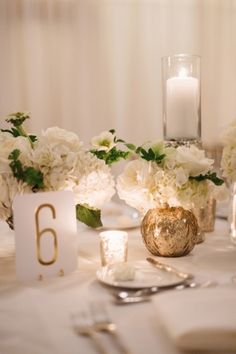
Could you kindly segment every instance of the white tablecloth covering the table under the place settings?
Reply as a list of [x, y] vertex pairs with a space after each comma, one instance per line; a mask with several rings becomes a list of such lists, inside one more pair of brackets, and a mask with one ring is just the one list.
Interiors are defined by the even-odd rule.
[[[130, 230], [129, 260], [144, 260], [149, 255], [140, 230]], [[226, 222], [217, 221], [215, 232], [206, 234], [205, 242], [189, 255], [161, 260], [194, 273], [197, 280], [212, 279], [219, 286], [235, 286], [231, 278], [236, 274], [236, 247], [230, 243]], [[78, 269], [65, 277], [29, 286], [19, 284], [15, 277], [14, 233], [0, 223], [0, 354], [96, 353], [88, 338], [75, 335], [69, 316], [94, 299], [107, 302], [132, 354], [182, 353], [159, 323], [152, 302], [126, 306], [112, 302], [109, 291], [96, 280], [99, 267], [98, 231], [79, 224]], [[107, 337], [104, 340], [111, 345]], [[116, 353], [114, 347], [110, 353]]]

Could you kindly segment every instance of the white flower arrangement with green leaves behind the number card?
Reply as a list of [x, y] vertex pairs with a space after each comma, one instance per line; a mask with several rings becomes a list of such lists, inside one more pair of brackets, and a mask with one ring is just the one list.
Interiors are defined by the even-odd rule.
[[0, 219], [13, 226], [16, 194], [70, 190], [77, 218], [101, 226], [99, 209], [115, 193], [109, 166], [86, 151], [72, 132], [52, 127], [39, 137], [26, 134], [22, 124], [28, 118], [12, 114], [7, 122], [13, 127], [0, 131]]

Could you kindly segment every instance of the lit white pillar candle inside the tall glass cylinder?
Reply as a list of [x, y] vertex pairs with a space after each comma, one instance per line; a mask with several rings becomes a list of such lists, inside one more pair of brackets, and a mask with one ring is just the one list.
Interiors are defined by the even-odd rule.
[[198, 136], [199, 81], [181, 68], [166, 82], [166, 124], [169, 139]]

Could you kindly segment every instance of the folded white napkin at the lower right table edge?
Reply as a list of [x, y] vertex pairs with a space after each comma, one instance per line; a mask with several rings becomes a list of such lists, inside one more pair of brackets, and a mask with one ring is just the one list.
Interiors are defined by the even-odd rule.
[[178, 348], [236, 352], [236, 287], [170, 291], [154, 304]]

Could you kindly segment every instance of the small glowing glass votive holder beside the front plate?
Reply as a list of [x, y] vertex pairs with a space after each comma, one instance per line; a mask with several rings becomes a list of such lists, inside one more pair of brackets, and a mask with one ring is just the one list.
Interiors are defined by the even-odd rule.
[[118, 230], [108, 230], [101, 232], [99, 235], [102, 266], [127, 261], [127, 232]]

